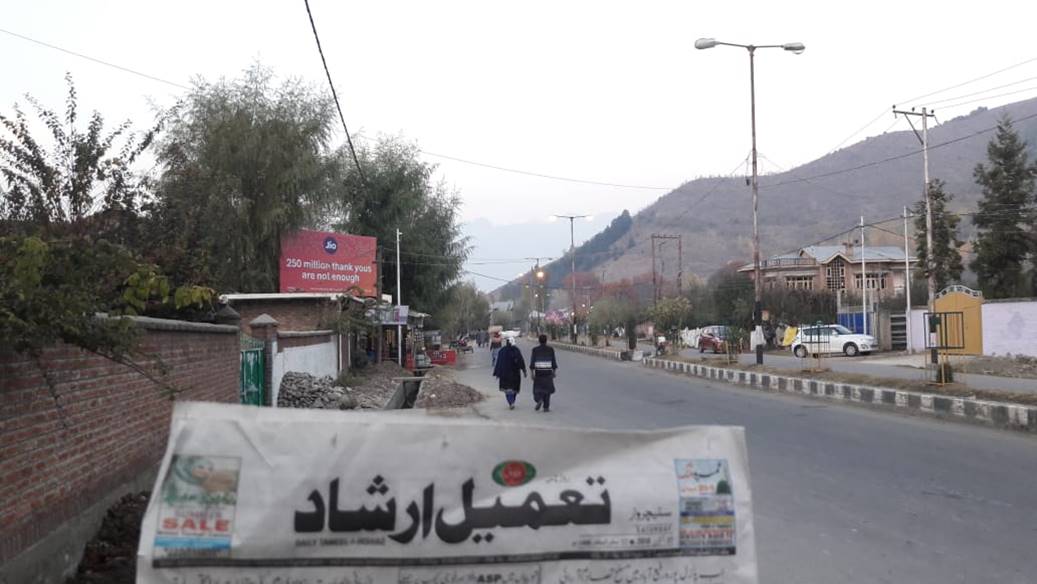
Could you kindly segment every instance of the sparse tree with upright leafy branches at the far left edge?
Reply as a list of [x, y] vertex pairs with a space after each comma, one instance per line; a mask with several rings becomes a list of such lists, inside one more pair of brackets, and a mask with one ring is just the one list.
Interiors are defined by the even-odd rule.
[[65, 82], [61, 115], [25, 96], [50, 133], [50, 147], [17, 105], [13, 117], [0, 114], [0, 225], [10, 233], [136, 243], [148, 179], [134, 165], [158, 129], [136, 136], [127, 121], [106, 132], [99, 112], [79, 128], [76, 85], [68, 75]]

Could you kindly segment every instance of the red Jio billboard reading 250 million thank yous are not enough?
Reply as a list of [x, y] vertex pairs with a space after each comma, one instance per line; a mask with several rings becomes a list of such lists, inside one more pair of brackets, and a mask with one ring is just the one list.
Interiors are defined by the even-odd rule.
[[373, 297], [377, 240], [331, 231], [296, 231], [281, 239], [282, 293], [349, 293]]

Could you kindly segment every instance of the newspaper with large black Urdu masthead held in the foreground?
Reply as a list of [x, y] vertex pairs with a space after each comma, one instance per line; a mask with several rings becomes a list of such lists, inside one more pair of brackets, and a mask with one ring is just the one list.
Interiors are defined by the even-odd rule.
[[755, 583], [741, 428], [180, 402], [137, 581]]

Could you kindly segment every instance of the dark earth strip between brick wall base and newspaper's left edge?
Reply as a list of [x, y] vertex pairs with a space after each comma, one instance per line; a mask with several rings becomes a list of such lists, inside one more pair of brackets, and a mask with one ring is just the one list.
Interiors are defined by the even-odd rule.
[[65, 584], [133, 584], [148, 495], [147, 491], [127, 495], [108, 509], [97, 534], [86, 545], [76, 575]]

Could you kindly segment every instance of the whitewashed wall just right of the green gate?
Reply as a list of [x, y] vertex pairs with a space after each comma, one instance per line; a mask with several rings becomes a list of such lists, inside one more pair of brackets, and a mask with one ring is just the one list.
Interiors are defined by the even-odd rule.
[[[277, 405], [281, 379], [287, 371], [310, 373], [318, 378], [337, 377], [340, 364], [338, 340], [339, 335], [332, 331], [279, 331], [271, 374], [271, 404]], [[341, 363], [342, 368], [347, 365], [348, 361]]]

